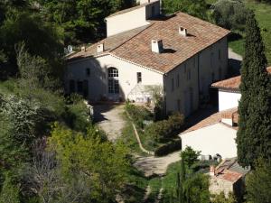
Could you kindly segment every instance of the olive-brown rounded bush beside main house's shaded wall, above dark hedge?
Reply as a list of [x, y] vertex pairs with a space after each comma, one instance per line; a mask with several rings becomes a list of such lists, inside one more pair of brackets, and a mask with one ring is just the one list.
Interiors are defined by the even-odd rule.
[[145, 135], [155, 142], [165, 143], [180, 132], [183, 125], [183, 115], [169, 116], [168, 120], [158, 121], [145, 128]]

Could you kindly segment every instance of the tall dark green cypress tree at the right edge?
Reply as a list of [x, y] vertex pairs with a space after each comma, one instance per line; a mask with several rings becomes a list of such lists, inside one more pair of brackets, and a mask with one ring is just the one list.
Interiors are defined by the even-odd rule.
[[266, 65], [260, 29], [255, 15], [249, 12], [238, 105], [238, 162], [242, 166], [253, 167], [259, 157], [271, 157], [271, 80]]

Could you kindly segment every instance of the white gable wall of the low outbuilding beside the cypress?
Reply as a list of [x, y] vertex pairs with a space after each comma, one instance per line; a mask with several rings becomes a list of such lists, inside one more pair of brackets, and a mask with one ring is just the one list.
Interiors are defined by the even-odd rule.
[[235, 143], [237, 131], [222, 124], [215, 124], [201, 129], [181, 134], [182, 150], [191, 146], [195, 151], [201, 151], [203, 155], [215, 155], [219, 153], [222, 159], [237, 156]]

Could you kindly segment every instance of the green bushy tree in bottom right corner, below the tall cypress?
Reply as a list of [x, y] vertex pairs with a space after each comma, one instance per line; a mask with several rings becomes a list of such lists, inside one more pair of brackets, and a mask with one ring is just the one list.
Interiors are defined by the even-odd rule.
[[247, 198], [253, 203], [271, 202], [271, 161], [259, 159], [246, 178]]

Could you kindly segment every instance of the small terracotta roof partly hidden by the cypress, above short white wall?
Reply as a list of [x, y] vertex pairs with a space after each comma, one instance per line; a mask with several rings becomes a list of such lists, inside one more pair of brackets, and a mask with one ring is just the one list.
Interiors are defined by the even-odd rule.
[[[266, 70], [268, 73], [271, 73], [271, 67], [266, 68]], [[233, 78], [224, 79], [219, 82], [215, 82], [211, 85], [211, 87], [238, 91], [240, 83], [241, 76], [237, 76]]]

